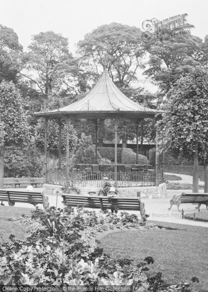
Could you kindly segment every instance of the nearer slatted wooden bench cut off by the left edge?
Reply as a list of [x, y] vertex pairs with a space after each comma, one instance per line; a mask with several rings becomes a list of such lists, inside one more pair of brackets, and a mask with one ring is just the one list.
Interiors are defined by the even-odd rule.
[[14, 206], [16, 202], [29, 203], [34, 206], [43, 204], [44, 209], [49, 209], [49, 199], [44, 196], [43, 192], [22, 192], [22, 191], [7, 191], [0, 190], [0, 201], [8, 201], [9, 206]]

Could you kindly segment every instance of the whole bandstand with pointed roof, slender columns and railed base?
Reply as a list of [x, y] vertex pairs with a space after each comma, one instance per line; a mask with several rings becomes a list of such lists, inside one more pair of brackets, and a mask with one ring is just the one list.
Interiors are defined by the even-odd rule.
[[[115, 187], [124, 186], [158, 186], [164, 181], [164, 169], [158, 169], [158, 159], [154, 169], [147, 166], [141, 169], [141, 165], [133, 165], [131, 171], [129, 168], [119, 168], [117, 164], [117, 131], [120, 119], [132, 119], [136, 121], [137, 133], [137, 162], [138, 162], [138, 125], [144, 118], [155, 119], [160, 112], [147, 107], [143, 107], [125, 96], [113, 83], [108, 72], [104, 70], [100, 80], [81, 100], [70, 104], [69, 106], [51, 111], [35, 112], [35, 117], [45, 118], [45, 177], [46, 182], [59, 185], [80, 185], [80, 186], [101, 186], [102, 182], [110, 181]], [[48, 169], [47, 140], [48, 140], [48, 120], [59, 120], [59, 169]], [[97, 164], [97, 133], [98, 119], [114, 119], [115, 122], [115, 164], [99, 168]], [[66, 170], [61, 170], [61, 119], [66, 120]], [[86, 164], [86, 168], [74, 170], [69, 165], [69, 119], [92, 119], [95, 125], [96, 149], [95, 164]], [[157, 153], [157, 129], [156, 129], [156, 153]], [[94, 168], [93, 168], [94, 165]], [[96, 166], [97, 165], [97, 166]], [[164, 165], [164, 161], [163, 161]], [[90, 170], [91, 169], [91, 170]], [[126, 171], [128, 169], [128, 171]]]

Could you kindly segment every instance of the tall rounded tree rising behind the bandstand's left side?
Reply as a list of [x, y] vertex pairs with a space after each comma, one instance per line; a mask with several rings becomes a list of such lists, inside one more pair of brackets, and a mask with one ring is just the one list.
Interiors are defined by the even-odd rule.
[[62, 67], [65, 68], [71, 59], [66, 37], [52, 31], [40, 33], [33, 36], [29, 53], [25, 55], [27, 69], [34, 71], [37, 77], [23, 73], [22, 75], [34, 81], [43, 96], [48, 99], [52, 97], [54, 88], [59, 86]]

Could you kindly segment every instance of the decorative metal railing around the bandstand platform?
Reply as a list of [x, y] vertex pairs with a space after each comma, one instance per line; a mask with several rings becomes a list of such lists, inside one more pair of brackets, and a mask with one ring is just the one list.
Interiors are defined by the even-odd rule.
[[[157, 172], [158, 183], [163, 182], [163, 170]], [[47, 183], [73, 185], [73, 186], [95, 186], [102, 187], [104, 182], [115, 183], [114, 172], [73, 172], [48, 170]], [[156, 184], [156, 171], [139, 171], [139, 172], [118, 172], [118, 187], [130, 186], [153, 186]]]

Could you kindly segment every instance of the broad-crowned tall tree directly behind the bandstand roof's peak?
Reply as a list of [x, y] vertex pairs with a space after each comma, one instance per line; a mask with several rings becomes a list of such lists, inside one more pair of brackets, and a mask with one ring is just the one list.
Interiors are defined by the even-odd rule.
[[102, 66], [119, 87], [127, 86], [142, 67], [141, 33], [139, 28], [121, 23], [101, 25], [78, 42], [78, 52], [94, 64], [98, 74]]

